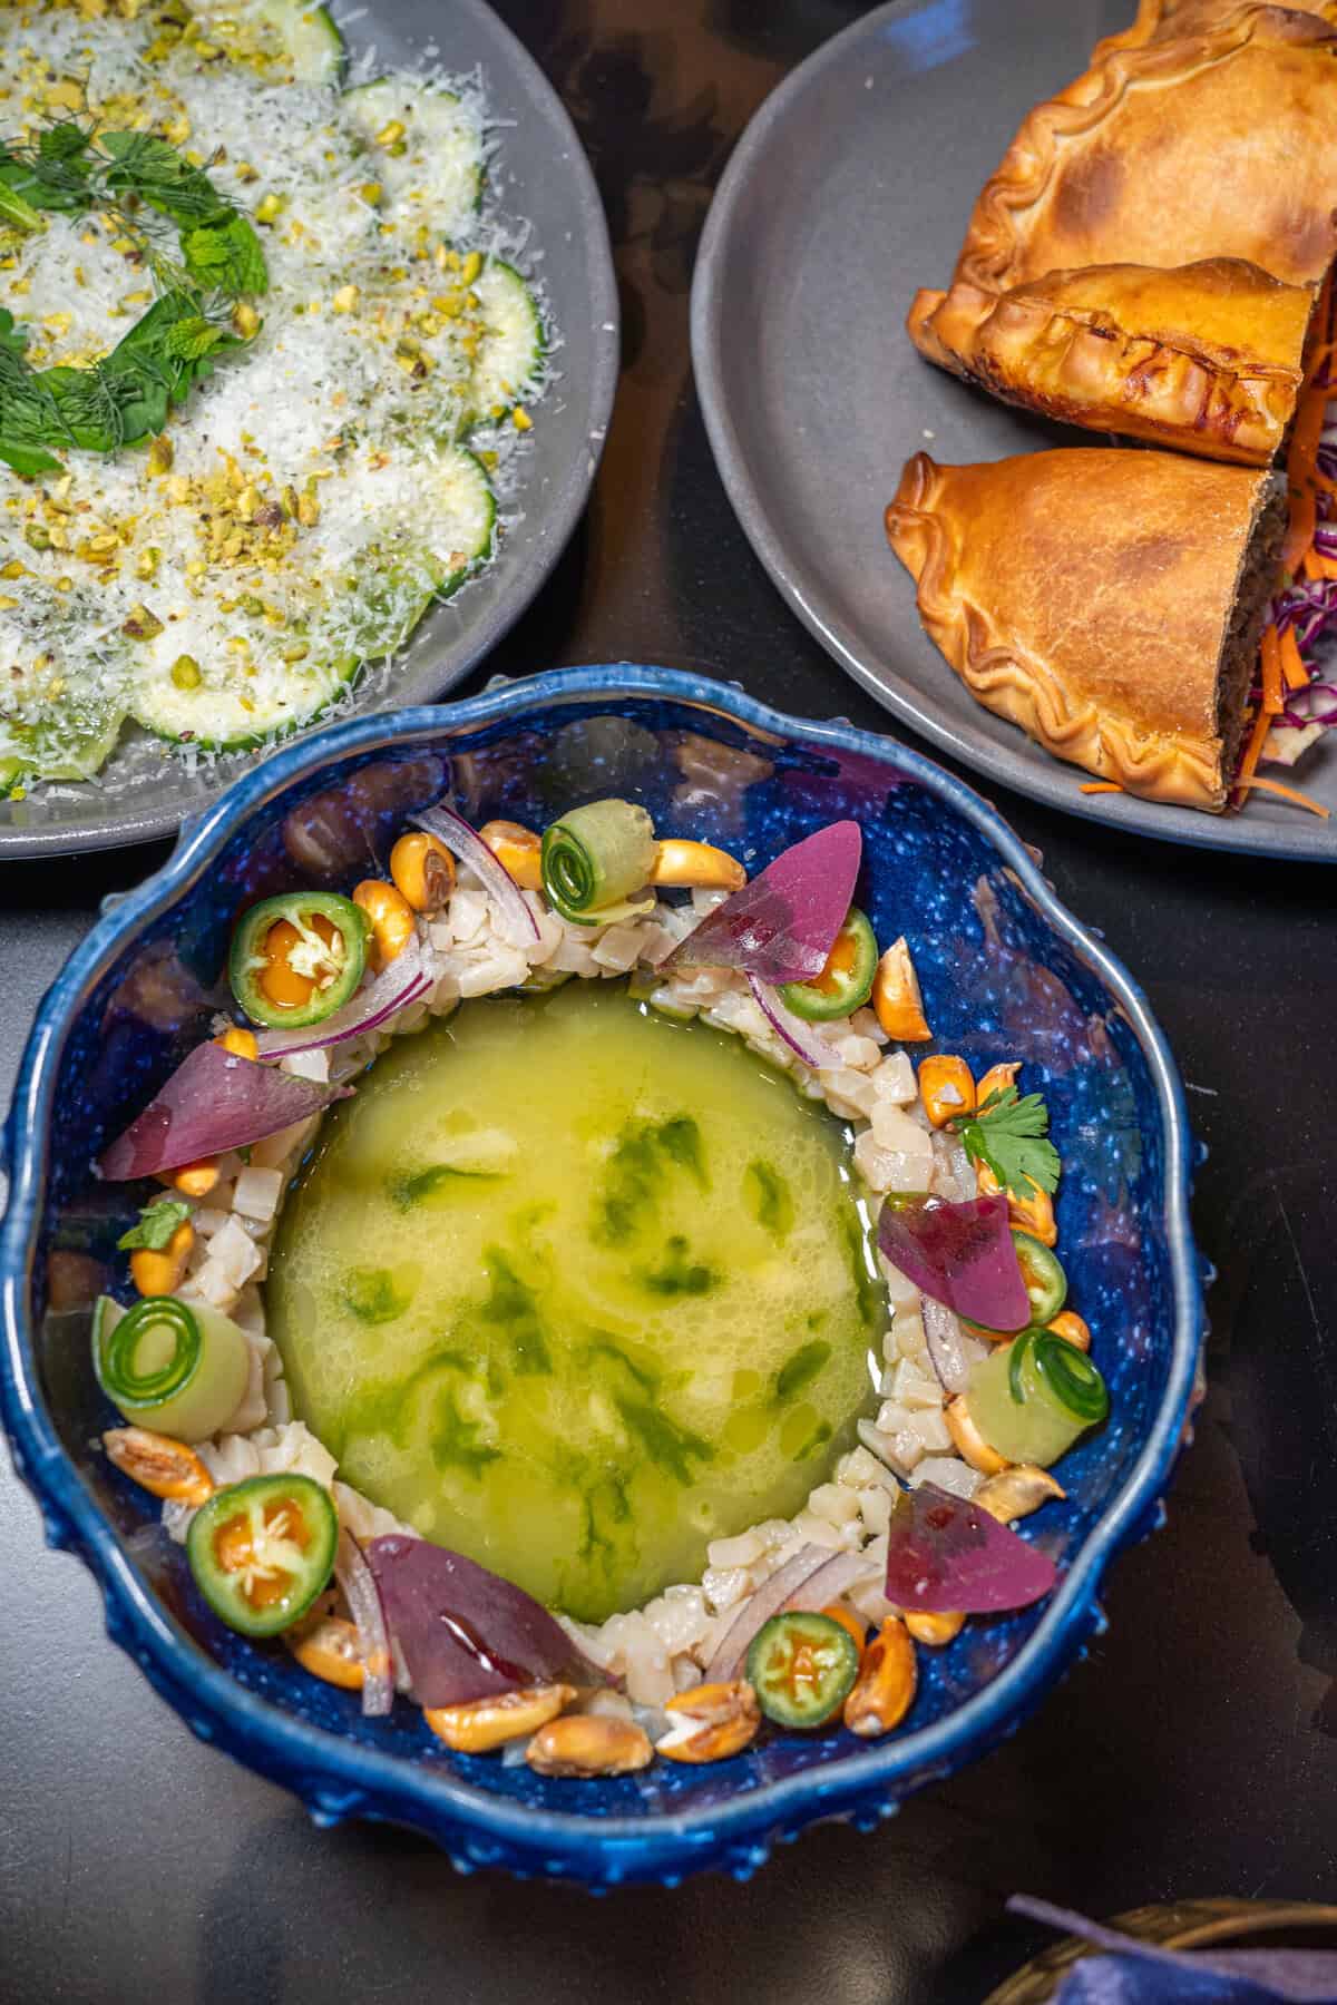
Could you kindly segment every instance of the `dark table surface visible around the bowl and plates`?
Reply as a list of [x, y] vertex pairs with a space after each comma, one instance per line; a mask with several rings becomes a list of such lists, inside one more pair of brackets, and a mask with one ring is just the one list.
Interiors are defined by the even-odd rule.
[[[1006, 0], [994, 0], [1004, 6]], [[607, 203], [625, 373], [593, 505], [485, 672], [639, 660], [878, 728], [784, 610], [716, 477], [688, 359], [710, 190], [838, 0], [505, 0]], [[1123, 8], [1094, 6], [1092, 34]], [[890, 469], [888, 469], [890, 471]], [[1000, 796], [1151, 994], [1209, 1145], [1211, 1391], [1169, 1526], [1040, 1716], [872, 1837], [810, 1833], [752, 1883], [603, 1901], [479, 1873], [295, 1800], [190, 1738], [104, 1634], [82, 1566], [0, 1470], [0, 1999], [22, 2005], [976, 2001], [1034, 1953], [1024, 1889], [1094, 1915], [1337, 1899], [1337, 956], [1321, 868], [1153, 842]], [[32, 1011], [108, 890], [164, 850], [10, 864], [8, 1093]], [[2, 1458], [0, 1458], [2, 1460]]]

